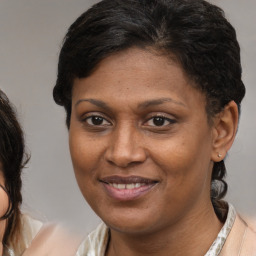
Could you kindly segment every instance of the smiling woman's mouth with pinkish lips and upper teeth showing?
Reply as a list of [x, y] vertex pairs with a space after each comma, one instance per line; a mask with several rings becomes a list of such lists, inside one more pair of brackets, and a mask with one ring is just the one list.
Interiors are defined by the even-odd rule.
[[118, 201], [131, 201], [149, 193], [157, 180], [139, 176], [108, 176], [100, 179], [108, 196]]

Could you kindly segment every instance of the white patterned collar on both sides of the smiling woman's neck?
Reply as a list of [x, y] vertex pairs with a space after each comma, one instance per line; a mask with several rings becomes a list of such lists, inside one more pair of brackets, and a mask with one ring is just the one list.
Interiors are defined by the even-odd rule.
[[[236, 211], [229, 204], [227, 219], [217, 238], [204, 256], [218, 256], [235, 222]], [[105, 256], [109, 240], [109, 228], [101, 223], [80, 245], [76, 256]]]

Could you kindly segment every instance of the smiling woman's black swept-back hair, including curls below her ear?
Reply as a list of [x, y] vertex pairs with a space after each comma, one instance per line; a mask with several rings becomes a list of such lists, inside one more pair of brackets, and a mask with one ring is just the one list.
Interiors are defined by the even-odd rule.
[[[70, 125], [75, 78], [89, 76], [106, 57], [138, 47], [178, 63], [192, 86], [204, 93], [209, 123], [234, 100], [240, 111], [245, 94], [236, 32], [219, 7], [204, 0], [103, 0], [69, 28], [59, 56], [54, 100]], [[215, 162], [211, 200], [225, 219], [224, 161]]]

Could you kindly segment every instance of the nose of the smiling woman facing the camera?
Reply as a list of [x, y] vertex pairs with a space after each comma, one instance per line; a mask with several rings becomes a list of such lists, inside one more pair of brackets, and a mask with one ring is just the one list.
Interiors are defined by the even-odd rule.
[[109, 163], [121, 168], [143, 163], [147, 154], [143, 147], [142, 135], [135, 127], [116, 128], [110, 138], [105, 156]]

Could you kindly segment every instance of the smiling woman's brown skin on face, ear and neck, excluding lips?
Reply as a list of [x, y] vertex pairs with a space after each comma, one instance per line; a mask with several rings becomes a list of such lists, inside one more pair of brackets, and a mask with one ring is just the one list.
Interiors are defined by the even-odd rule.
[[[70, 152], [83, 196], [110, 227], [106, 255], [198, 256], [215, 240], [222, 224], [210, 200], [211, 172], [232, 145], [238, 113], [231, 102], [210, 125], [205, 104], [179, 65], [136, 48], [75, 80]], [[95, 125], [93, 116], [103, 122]], [[119, 201], [100, 182], [112, 175], [157, 184]]]

